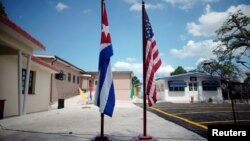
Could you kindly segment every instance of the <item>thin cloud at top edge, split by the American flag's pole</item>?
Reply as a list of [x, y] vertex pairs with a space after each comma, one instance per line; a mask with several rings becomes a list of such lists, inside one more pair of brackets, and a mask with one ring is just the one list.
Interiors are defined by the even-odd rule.
[[[142, 9], [142, 5], [141, 5], [141, 1], [139, 0], [124, 0], [126, 3], [130, 4], [130, 11], [141, 11]], [[151, 4], [151, 3], [146, 3], [145, 4], [145, 8], [146, 9], [164, 9], [164, 6], [162, 3], [155, 3], [155, 4]]]

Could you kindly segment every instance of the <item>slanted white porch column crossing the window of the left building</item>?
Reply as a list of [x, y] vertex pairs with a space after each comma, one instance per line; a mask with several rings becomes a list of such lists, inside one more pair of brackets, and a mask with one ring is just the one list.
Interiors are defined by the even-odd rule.
[[26, 114], [26, 99], [29, 90], [29, 78], [30, 78], [30, 64], [31, 64], [31, 56], [27, 56], [27, 66], [26, 66], [26, 78], [25, 78], [25, 88], [24, 88], [24, 96], [23, 96], [23, 115]]

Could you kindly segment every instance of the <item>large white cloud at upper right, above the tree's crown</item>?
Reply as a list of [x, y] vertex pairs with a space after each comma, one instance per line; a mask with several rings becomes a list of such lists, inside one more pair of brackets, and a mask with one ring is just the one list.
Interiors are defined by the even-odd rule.
[[215, 31], [219, 29], [230, 13], [238, 10], [250, 16], [250, 5], [230, 6], [224, 12], [211, 11], [211, 6], [206, 5], [205, 12], [200, 16], [197, 22], [188, 22], [186, 28], [188, 33], [193, 36], [213, 36]]

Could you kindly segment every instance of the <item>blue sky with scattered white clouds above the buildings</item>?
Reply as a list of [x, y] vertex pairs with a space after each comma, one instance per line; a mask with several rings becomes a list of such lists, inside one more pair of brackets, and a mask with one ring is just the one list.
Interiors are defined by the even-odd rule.
[[[39, 40], [45, 51], [85, 71], [98, 70], [101, 0], [0, 0], [8, 17]], [[192, 70], [215, 58], [215, 31], [229, 13], [250, 16], [249, 0], [145, 0], [160, 52], [157, 77], [178, 66]], [[141, 0], [106, 0], [114, 55], [113, 71], [133, 71], [142, 78]]]

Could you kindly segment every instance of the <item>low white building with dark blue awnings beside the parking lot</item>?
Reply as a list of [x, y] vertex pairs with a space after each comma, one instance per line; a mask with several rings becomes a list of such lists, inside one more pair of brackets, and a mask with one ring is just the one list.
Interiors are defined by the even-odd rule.
[[222, 101], [220, 79], [205, 73], [186, 73], [156, 80], [158, 100], [176, 103]]

